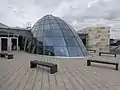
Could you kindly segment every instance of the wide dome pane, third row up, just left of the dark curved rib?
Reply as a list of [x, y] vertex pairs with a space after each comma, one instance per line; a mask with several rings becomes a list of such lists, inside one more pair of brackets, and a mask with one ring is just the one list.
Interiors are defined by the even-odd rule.
[[62, 36], [61, 30], [45, 30], [44, 36]]

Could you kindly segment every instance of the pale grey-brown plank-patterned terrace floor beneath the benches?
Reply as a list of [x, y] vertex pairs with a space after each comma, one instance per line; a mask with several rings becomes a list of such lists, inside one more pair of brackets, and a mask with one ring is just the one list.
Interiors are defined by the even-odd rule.
[[[118, 61], [112, 56], [96, 58]], [[44, 60], [58, 64], [58, 72], [49, 74], [48, 68], [29, 68], [30, 60]], [[85, 60], [61, 60], [24, 52], [14, 53], [14, 59], [0, 58], [0, 90], [120, 90], [120, 68], [93, 64]]]

